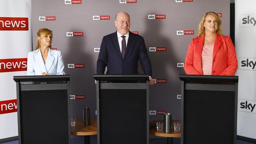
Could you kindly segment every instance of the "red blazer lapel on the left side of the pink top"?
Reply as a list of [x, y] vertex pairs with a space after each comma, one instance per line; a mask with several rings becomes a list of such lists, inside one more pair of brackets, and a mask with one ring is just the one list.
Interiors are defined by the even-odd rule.
[[198, 39], [197, 43], [195, 44], [195, 54], [196, 54], [197, 58], [199, 59], [198, 63], [200, 63], [199, 64], [199, 66], [200, 66], [200, 72], [199, 73], [200, 74], [203, 74], [203, 72], [202, 72], [202, 50], [203, 50], [203, 46], [204, 46], [204, 35], [202, 35]]

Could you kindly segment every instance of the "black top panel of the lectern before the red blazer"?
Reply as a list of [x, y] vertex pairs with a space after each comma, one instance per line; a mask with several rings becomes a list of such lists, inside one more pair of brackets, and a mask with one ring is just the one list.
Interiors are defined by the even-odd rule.
[[180, 74], [180, 80], [186, 83], [234, 84], [238, 83], [238, 76], [209, 76]]

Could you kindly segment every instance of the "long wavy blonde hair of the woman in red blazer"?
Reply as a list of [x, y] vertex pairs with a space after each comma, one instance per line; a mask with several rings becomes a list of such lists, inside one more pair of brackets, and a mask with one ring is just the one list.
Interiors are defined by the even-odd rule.
[[217, 19], [218, 28], [217, 28], [216, 32], [219, 35], [223, 35], [222, 30], [221, 30], [221, 19], [219, 18], [219, 15], [217, 13], [213, 12], [213, 11], [210, 11], [208, 13], [205, 13], [203, 15], [201, 21], [199, 22], [197, 37], [201, 37], [205, 33], [204, 22], [205, 22], [205, 18], [206, 18], [207, 15], [213, 15]]

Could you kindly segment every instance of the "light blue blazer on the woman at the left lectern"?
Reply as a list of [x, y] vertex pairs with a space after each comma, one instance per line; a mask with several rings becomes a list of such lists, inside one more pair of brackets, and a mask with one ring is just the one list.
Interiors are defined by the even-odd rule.
[[43, 72], [49, 75], [63, 75], [64, 65], [61, 52], [49, 48], [46, 62], [44, 63], [40, 48], [28, 53], [27, 75], [42, 75]]

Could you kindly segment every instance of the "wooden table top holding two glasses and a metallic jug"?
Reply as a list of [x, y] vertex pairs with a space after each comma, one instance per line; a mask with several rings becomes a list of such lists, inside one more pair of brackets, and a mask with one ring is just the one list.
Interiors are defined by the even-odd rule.
[[[150, 121], [150, 124], [156, 124], [156, 122], [163, 122], [163, 120], [154, 120]], [[155, 135], [158, 137], [181, 137], [181, 131], [174, 131], [173, 126], [174, 120], [172, 120], [172, 132], [171, 133], [165, 133], [164, 131], [157, 131], [156, 127], [149, 129], [150, 135]], [[175, 120], [175, 122], [180, 122], [180, 120]]]

